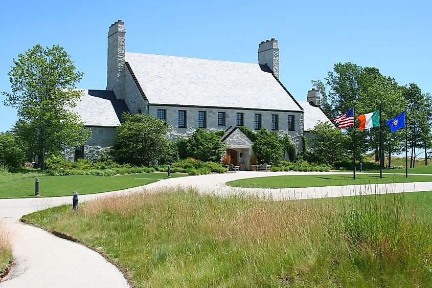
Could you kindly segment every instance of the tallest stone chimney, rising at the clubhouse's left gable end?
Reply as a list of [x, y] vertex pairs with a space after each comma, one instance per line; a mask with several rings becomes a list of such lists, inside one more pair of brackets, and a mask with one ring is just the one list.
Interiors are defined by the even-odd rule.
[[112, 90], [117, 99], [124, 99], [125, 34], [125, 25], [122, 20], [118, 20], [109, 27], [106, 90]]

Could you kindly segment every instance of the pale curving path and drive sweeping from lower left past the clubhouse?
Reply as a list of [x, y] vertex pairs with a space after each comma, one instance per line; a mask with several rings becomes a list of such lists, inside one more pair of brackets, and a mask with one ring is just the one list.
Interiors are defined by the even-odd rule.
[[[261, 189], [225, 186], [232, 180], [275, 175], [351, 174], [349, 172], [252, 172], [210, 174], [161, 180], [146, 186], [100, 194], [80, 195], [83, 201], [109, 195], [137, 193], [143, 189], [193, 187], [201, 193], [218, 196], [253, 194], [274, 200], [350, 196], [359, 194], [414, 192], [432, 190], [432, 182], [329, 186], [312, 188]], [[429, 174], [431, 175], [431, 174]], [[72, 192], [72, 190], [71, 190]], [[28, 225], [19, 223], [22, 215], [72, 204], [72, 195], [52, 198], [19, 198], [0, 200], [0, 220], [11, 224], [15, 233], [15, 267], [0, 287], [127, 287], [123, 275], [98, 253]]]

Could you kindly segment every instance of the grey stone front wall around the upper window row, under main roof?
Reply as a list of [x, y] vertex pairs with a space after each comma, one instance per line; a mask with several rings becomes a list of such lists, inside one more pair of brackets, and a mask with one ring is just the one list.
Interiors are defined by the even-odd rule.
[[[151, 116], [157, 116], [157, 109], [165, 109], [167, 116], [167, 123], [170, 127], [168, 132], [168, 138], [171, 140], [177, 140], [180, 137], [190, 137], [198, 127], [198, 111], [207, 112], [207, 131], [225, 131], [230, 126], [235, 127], [237, 113], [243, 113], [244, 126], [254, 130], [255, 125], [255, 114], [261, 114], [261, 127], [271, 130], [271, 115], [279, 115], [279, 135], [283, 137], [288, 135], [291, 141], [297, 146], [299, 151], [303, 150], [302, 143], [302, 113], [300, 112], [275, 112], [275, 111], [264, 111], [264, 110], [245, 110], [245, 109], [219, 109], [219, 108], [198, 108], [198, 107], [180, 107], [180, 106], [154, 106], [149, 105], [149, 114]], [[187, 111], [187, 127], [178, 127], [178, 110]], [[225, 125], [217, 124], [217, 113], [225, 113]], [[295, 131], [288, 131], [288, 115], [294, 116], [294, 128]]]

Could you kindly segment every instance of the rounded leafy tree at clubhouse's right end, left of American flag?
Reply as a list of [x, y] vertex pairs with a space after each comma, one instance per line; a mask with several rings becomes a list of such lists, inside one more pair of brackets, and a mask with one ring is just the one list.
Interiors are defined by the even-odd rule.
[[[351, 137], [329, 122], [319, 123], [310, 130], [309, 142], [312, 148], [307, 152], [307, 160], [334, 166], [336, 162], [350, 159]], [[352, 157], [351, 157], [352, 159]]]

